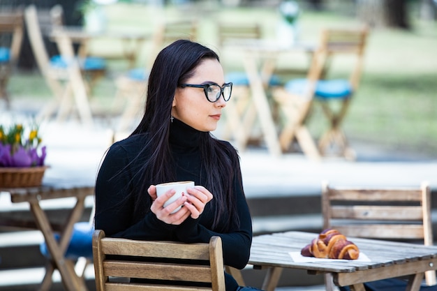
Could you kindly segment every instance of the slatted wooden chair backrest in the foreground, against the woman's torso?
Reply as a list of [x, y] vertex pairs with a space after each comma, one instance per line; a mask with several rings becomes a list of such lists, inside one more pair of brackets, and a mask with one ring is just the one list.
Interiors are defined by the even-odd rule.
[[[209, 244], [184, 244], [110, 238], [96, 230], [93, 255], [98, 291], [225, 291], [220, 237], [212, 237]], [[130, 278], [149, 280], [133, 283]], [[199, 283], [212, 287], [193, 287]]]

